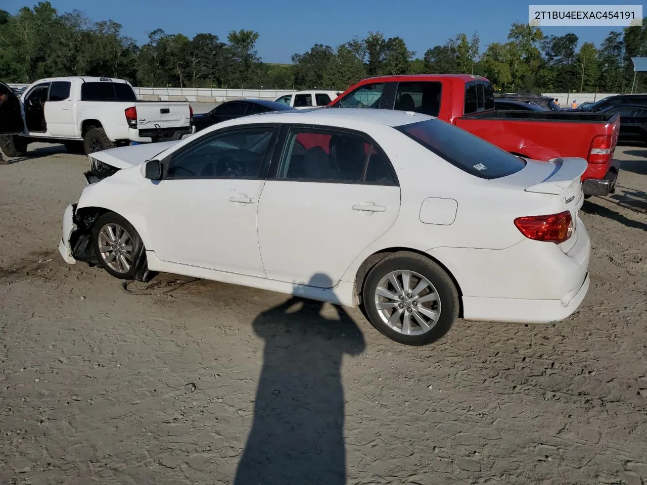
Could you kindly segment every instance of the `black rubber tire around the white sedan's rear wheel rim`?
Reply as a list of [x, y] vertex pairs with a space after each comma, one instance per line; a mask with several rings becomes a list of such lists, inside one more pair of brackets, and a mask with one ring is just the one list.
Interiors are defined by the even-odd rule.
[[[380, 312], [375, 303], [375, 291], [382, 279], [391, 272], [398, 271], [407, 271], [419, 274], [432, 283], [433, 288], [435, 288], [435, 293], [437, 294], [440, 303], [440, 314], [435, 325], [424, 333], [417, 335], [404, 334], [402, 333], [402, 330], [394, 330], [389, 327], [389, 325], [387, 325], [387, 323], [382, 319], [382, 316], [380, 316]], [[417, 276], [414, 275], [413, 277], [418, 281]], [[411, 281], [413, 282], [413, 279], [411, 279]], [[413, 284], [415, 285], [415, 283]], [[452, 278], [443, 270], [443, 268], [441, 268], [441, 266], [417, 253], [397, 252], [385, 257], [382, 261], [375, 264], [375, 266], [373, 266], [366, 275], [364, 287], [362, 288], [362, 305], [371, 325], [388, 338], [399, 343], [403, 343], [404, 345], [426, 345], [441, 338], [454, 324], [458, 318], [460, 302], [454, 281], [452, 281]], [[410, 303], [409, 306], [411, 308], [419, 308], [415, 306], [412, 307], [412, 305], [417, 305], [417, 303]], [[432, 302], [428, 303], [428, 305], [433, 306], [437, 305], [437, 303]], [[402, 319], [399, 319], [401, 329], [403, 324], [400, 320]], [[411, 321], [413, 322], [415, 319], [412, 318]], [[412, 329], [414, 329], [414, 325], [415, 329], [422, 331], [422, 327], [417, 323], [412, 324]]]

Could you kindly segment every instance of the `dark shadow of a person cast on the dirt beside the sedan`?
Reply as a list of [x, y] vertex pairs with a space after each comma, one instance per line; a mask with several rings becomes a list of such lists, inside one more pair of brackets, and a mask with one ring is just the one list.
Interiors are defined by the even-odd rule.
[[345, 483], [340, 368], [344, 355], [359, 354], [365, 343], [345, 310], [335, 308], [338, 319], [329, 319], [320, 314], [323, 303], [294, 296], [254, 319], [254, 332], [265, 339], [263, 369], [234, 485]]

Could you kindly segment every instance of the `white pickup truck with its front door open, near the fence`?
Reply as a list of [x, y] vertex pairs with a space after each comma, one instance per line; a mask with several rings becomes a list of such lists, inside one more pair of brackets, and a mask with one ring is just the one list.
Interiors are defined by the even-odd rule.
[[[30, 142], [62, 143], [69, 151], [178, 140], [193, 133], [188, 102], [140, 101], [128, 81], [49, 78], [17, 97], [0, 83], [0, 148], [21, 156]], [[2, 98], [0, 98], [1, 100]]]

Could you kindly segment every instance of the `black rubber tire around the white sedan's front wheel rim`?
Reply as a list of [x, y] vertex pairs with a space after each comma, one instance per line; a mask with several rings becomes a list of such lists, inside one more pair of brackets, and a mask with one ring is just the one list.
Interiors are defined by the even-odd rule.
[[[131, 244], [129, 244], [129, 246], [131, 246], [131, 261], [129, 262], [130, 264], [127, 270], [124, 268], [124, 270], [118, 271], [116, 268], [113, 268], [111, 264], [106, 261], [102, 251], [100, 250], [100, 243], [102, 241], [100, 233], [108, 224], [116, 224], [117, 226], [120, 226], [120, 228], [123, 228], [129, 236], [131, 242]], [[128, 241], [126, 241], [126, 243], [127, 242]], [[130, 222], [126, 221], [126, 219], [117, 213], [107, 212], [94, 222], [92, 228], [92, 244], [96, 259], [110, 275], [119, 279], [137, 279], [138, 281], [150, 281], [155, 276], [154, 273], [149, 272], [148, 270], [146, 248], [144, 248], [144, 243], [142, 242], [142, 238], [139, 236], [139, 233]], [[109, 253], [114, 252], [111, 251]]]

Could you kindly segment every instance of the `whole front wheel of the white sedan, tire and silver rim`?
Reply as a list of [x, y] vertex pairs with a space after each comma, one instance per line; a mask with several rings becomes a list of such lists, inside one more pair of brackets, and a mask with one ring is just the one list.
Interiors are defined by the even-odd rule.
[[132, 224], [115, 212], [99, 217], [92, 230], [94, 254], [101, 266], [120, 279], [150, 281], [146, 249]]

